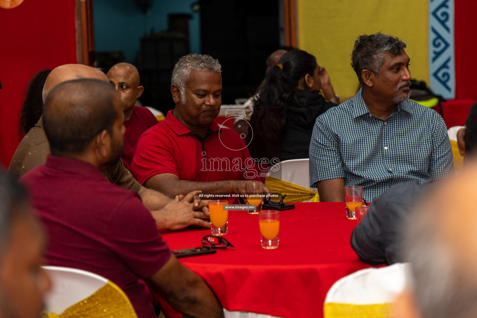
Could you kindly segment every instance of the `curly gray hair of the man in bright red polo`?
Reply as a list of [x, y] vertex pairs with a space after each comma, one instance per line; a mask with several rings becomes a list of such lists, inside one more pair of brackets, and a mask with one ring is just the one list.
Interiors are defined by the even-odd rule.
[[207, 54], [191, 53], [181, 57], [172, 71], [171, 85], [176, 84], [179, 88], [180, 101], [183, 104], [186, 103], [186, 83], [192, 70], [221, 73], [222, 65], [217, 59]]

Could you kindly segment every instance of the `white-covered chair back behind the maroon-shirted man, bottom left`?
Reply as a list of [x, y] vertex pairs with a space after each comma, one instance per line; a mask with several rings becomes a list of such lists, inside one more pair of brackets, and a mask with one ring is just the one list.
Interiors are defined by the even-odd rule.
[[[127, 296], [108, 279], [76, 268], [56, 266], [43, 266], [43, 268], [52, 281], [52, 288], [45, 296], [46, 312], [60, 315], [65, 309], [83, 301], [109, 284], [114, 286], [116, 295], [121, 294], [119, 297], [122, 299], [123, 305], [125, 304], [127, 307], [124, 317], [136, 317]], [[89, 313], [94, 314], [93, 311]]]

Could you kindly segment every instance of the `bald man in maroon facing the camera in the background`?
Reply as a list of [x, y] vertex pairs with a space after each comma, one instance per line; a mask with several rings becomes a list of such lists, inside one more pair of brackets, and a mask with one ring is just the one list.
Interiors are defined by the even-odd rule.
[[144, 87], [139, 85], [139, 72], [134, 65], [129, 63], [117, 63], [106, 74], [109, 82], [119, 93], [123, 103], [124, 113], [124, 148], [121, 159], [128, 170], [131, 170], [131, 162], [136, 150], [139, 137], [157, 124], [156, 117], [145, 107], [135, 106], [136, 99], [141, 96]]

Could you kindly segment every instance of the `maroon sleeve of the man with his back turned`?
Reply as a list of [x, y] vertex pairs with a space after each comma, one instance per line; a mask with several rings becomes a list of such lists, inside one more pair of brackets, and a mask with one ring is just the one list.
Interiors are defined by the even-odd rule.
[[112, 214], [104, 231], [108, 248], [139, 277], [149, 278], [171, 256], [156, 222], [137, 194], [132, 194]]

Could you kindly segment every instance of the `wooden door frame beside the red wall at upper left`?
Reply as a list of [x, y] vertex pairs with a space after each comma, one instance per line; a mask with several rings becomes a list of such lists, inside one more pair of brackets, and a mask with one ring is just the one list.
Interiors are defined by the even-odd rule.
[[93, 0], [74, 1], [76, 63], [95, 66]]

